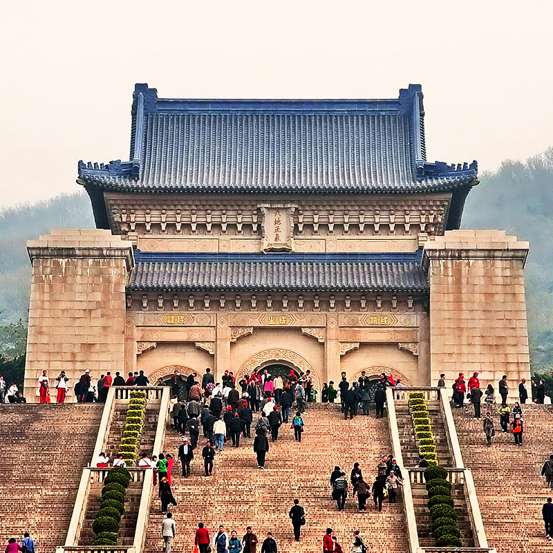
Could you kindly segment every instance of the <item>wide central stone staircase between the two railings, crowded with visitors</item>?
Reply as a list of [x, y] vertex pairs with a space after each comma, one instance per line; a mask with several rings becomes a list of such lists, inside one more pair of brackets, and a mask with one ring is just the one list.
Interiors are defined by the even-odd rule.
[[[382, 513], [375, 511], [372, 500], [368, 510], [359, 513], [357, 498], [351, 497], [344, 511], [338, 512], [330, 498], [328, 481], [335, 465], [349, 477], [353, 463], [359, 462], [372, 484], [377, 462], [391, 451], [387, 420], [359, 415], [344, 421], [339, 406], [331, 404], [310, 406], [304, 420], [301, 443], [294, 441], [292, 429], [283, 424], [279, 440], [270, 443], [265, 470], [257, 468], [252, 438], [243, 440], [239, 448], [225, 445], [223, 453], [216, 455], [214, 475], [205, 477], [200, 438], [191, 477], [180, 476], [180, 463], [174, 467], [173, 492], [178, 503], [172, 509], [177, 523], [174, 550], [191, 551], [198, 522], [203, 522], [210, 536], [223, 524], [228, 531], [236, 529], [240, 538], [251, 525], [260, 544], [270, 531], [279, 551], [286, 553], [320, 551], [326, 527], [334, 529], [344, 551], [350, 548], [353, 530], [360, 529], [368, 551], [405, 553], [408, 544], [401, 494], [398, 503], [385, 503]], [[180, 443], [180, 435], [167, 429], [165, 453], [176, 456]], [[299, 543], [294, 541], [288, 518], [294, 498], [306, 510], [307, 525], [302, 527]], [[154, 492], [145, 544], [148, 552], [162, 547], [162, 518]]]

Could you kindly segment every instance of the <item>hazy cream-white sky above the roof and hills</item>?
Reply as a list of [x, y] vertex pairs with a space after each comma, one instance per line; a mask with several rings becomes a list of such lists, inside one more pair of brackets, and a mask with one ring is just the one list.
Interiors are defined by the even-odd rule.
[[553, 1], [0, 0], [0, 206], [129, 158], [160, 97], [390, 98], [422, 84], [429, 160], [553, 145]]

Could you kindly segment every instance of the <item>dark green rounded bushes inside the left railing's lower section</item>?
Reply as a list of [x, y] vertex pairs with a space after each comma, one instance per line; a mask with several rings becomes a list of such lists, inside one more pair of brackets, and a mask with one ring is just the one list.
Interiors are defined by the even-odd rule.
[[125, 512], [125, 491], [131, 481], [131, 473], [124, 467], [113, 467], [104, 478], [100, 510], [92, 529], [96, 534], [93, 545], [117, 545], [117, 533]]

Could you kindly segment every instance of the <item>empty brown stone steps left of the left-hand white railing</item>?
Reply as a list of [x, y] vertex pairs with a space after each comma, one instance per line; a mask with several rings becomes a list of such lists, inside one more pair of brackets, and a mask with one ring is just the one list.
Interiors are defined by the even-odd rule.
[[0, 538], [35, 538], [37, 551], [64, 543], [83, 467], [88, 465], [103, 405], [0, 406]]

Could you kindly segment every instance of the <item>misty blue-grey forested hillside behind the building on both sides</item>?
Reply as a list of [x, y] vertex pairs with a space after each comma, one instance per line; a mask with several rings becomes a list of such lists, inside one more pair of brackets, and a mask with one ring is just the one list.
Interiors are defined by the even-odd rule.
[[[531, 244], [526, 265], [530, 348], [534, 368], [553, 364], [553, 148], [526, 162], [507, 160], [480, 176], [467, 199], [465, 228], [505, 229]], [[24, 350], [17, 321], [27, 319], [29, 238], [51, 228], [94, 227], [84, 193], [0, 212], [0, 355]]]

